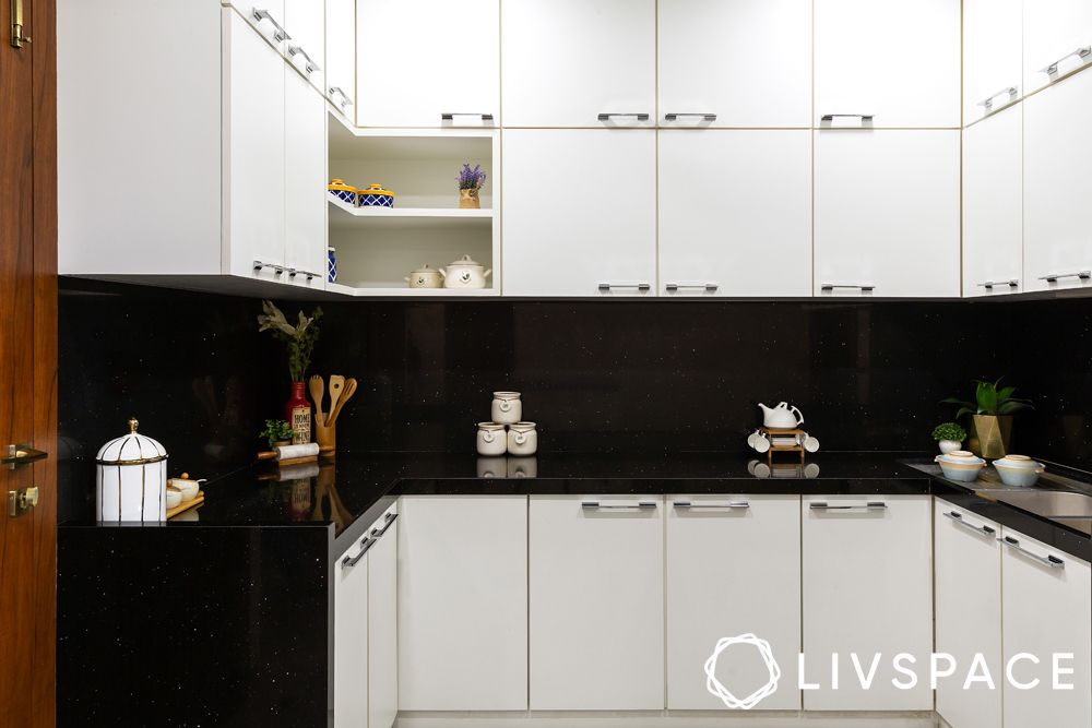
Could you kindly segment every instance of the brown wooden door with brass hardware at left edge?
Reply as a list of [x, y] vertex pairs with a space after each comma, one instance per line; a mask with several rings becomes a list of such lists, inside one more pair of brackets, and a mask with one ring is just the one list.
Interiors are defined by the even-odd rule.
[[[23, 0], [12, 45], [0, 2], [0, 455], [9, 443], [50, 457], [0, 467], [0, 723], [55, 724], [57, 580], [57, 93], [55, 0]], [[8, 511], [9, 491], [37, 486], [37, 506]]]

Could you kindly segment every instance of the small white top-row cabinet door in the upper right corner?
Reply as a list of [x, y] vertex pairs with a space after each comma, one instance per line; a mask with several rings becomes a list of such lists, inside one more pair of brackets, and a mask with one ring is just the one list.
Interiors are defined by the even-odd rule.
[[[1088, 0], [1025, 0], [1023, 82], [1025, 93], [1042, 88], [1092, 62], [1092, 3]], [[1048, 72], [1052, 71], [1053, 72]]]

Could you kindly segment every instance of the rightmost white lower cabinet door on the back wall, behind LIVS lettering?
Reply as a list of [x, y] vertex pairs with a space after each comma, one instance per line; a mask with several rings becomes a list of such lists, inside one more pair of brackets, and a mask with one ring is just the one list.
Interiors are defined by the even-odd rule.
[[[933, 709], [927, 677], [933, 649], [929, 497], [805, 496], [803, 508], [806, 669], [800, 682], [816, 685], [805, 687], [804, 708]], [[894, 669], [893, 658], [900, 653], [916, 660], [903, 665], [918, 673], [916, 685], [909, 690], [892, 683], [911, 682]]]

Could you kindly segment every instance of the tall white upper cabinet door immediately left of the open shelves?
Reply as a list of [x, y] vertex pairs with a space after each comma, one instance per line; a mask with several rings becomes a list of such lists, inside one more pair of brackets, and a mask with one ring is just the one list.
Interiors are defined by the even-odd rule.
[[290, 283], [322, 290], [329, 205], [327, 105], [294, 70], [285, 67], [284, 74], [285, 265], [298, 271], [289, 277]]

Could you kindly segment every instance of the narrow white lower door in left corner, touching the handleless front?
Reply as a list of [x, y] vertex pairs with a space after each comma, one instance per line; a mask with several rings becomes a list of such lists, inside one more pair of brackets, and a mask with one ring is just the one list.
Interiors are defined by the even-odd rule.
[[[395, 516], [391, 509], [384, 522]], [[368, 728], [391, 728], [399, 712], [399, 522], [376, 526], [368, 551]]]

